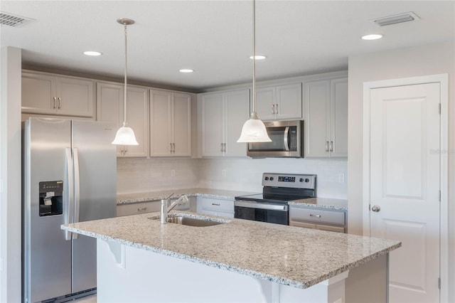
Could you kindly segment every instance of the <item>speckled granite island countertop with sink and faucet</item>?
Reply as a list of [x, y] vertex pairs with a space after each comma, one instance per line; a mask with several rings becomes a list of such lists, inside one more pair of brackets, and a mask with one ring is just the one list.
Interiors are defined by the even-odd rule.
[[[178, 213], [201, 216], [178, 211], [170, 214]], [[62, 228], [297, 288], [316, 285], [401, 246], [395, 240], [203, 217], [228, 223], [209, 227], [161, 225], [160, 220], [149, 219], [159, 218], [159, 213], [144, 213], [62, 225]]]

